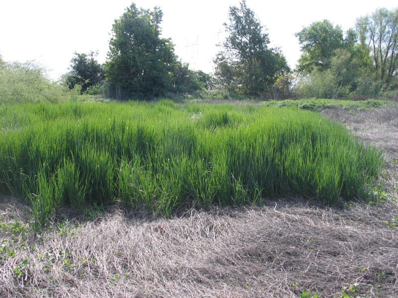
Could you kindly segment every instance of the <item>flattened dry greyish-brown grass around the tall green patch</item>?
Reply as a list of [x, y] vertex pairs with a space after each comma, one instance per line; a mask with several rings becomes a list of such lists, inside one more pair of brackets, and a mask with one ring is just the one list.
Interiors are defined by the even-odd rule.
[[[1, 228], [0, 297], [398, 297], [398, 108], [322, 113], [385, 151], [379, 206], [284, 198], [170, 220], [65, 211], [39, 236]], [[18, 200], [0, 198], [0, 213], [28, 229]]]

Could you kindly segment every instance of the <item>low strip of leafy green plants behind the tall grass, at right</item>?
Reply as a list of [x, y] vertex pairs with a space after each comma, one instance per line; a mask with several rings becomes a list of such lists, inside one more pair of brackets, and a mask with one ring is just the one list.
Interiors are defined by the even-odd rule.
[[347, 110], [369, 110], [391, 104], [388, 100], [340, 100], [340, 99], [298, 99], [298, 100], [270, 100], [262, 102], [268, 107], [292, 107], [296, 106], [303, 110], [322, 111], [326, 109], [343, 108]]

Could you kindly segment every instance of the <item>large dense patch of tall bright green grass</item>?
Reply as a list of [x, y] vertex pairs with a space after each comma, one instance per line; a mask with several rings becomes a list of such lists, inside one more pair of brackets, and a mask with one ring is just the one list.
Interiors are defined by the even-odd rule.
[[293, 195], [367, 199], [382, 156], [297, 108], [159, 103], [0, 106], [1, 191], [43, 224], [62, 205], [181, 206]]

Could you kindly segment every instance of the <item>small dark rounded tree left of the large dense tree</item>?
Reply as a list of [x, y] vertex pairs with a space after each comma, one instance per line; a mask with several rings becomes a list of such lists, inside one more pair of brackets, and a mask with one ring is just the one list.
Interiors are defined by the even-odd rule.
[[104, 81], [104, 67], [95, 59], [98, 53], [75, 52], [74, 55], [75, 57], [71, 60], [71, 71], [65, 75], [65, 83], [70, 89], [73, 89], [75, 85], [81, 85], [81, 92], [84, 93], [88, 88]]

